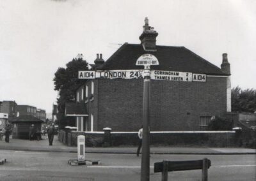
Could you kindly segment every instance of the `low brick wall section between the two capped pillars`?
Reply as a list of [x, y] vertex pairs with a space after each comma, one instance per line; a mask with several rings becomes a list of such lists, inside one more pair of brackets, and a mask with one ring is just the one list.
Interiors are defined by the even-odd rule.
[[[150, 145], [232, 147], [235, 131], [165, 131], [151, 132]], [[111, 145], [137, 145], [138, 133], [111, 133]]]

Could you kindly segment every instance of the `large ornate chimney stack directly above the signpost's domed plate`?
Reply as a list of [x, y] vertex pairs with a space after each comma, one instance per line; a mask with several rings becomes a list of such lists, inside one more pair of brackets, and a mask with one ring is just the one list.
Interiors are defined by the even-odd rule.
[[158, 33], [154, 31], [154, 27], [148, 25], [148, 18], [145, 18], [143, 25], [143, 33], [140, 36], [141, 45], [145, 51], [156, 51], [156, 37]]

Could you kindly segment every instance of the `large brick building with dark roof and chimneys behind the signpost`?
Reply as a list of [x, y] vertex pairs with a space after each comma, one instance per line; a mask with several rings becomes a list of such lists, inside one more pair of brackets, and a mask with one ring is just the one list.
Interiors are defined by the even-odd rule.
[[[213, 116], [231, 112], [227, 54], [223, 54], [219, 68], [185, 47], [156, 45], [157, 35], [146, 18], [140, 44], [125, 43], [106, 62], [97, 55], [93, 69], [103, 75], [111, 70], [142, 71], [143, 66], [136, 66], [141, 55], [157, 57], [159, 66], [151, 66], [157, 78], [150, 86], [150, 131], [205, 130]], [[176, 76], [165, 76], [167, 73]], [[191, 74], [192, 80], [179, 76], [186, 74]], [[204, 81], [196, 80], [196, 75], [205, 76]], [[78, 131], [102, 131], [104, 127], [138, 131], [142, 124], [143, 79], [102, 76], [85, 80], [76, 91], [76, 101], [76, 105], [67, 104], [66, 115], [76, 116]]]

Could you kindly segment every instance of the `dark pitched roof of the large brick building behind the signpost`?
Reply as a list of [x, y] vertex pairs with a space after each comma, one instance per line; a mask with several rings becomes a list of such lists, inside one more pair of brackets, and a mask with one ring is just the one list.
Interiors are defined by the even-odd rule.
[[156, 52], [146, 52], [142, 45], [125, 43], [98, 69], [143, 69], [143, 66], [135, 65], [138, 57], [152, 54], [157, 57], [159, 66], [152, 66], [151, 69], [227, 75], [185, 47], [156, 46], [156, 49]]

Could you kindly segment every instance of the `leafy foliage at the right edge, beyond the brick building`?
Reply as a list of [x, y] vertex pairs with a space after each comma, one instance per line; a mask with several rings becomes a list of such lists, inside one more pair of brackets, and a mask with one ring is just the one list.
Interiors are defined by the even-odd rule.
[[256, 90], [235, 87], [231, 91], [232, 112], [252, 112], [256, 111]]

